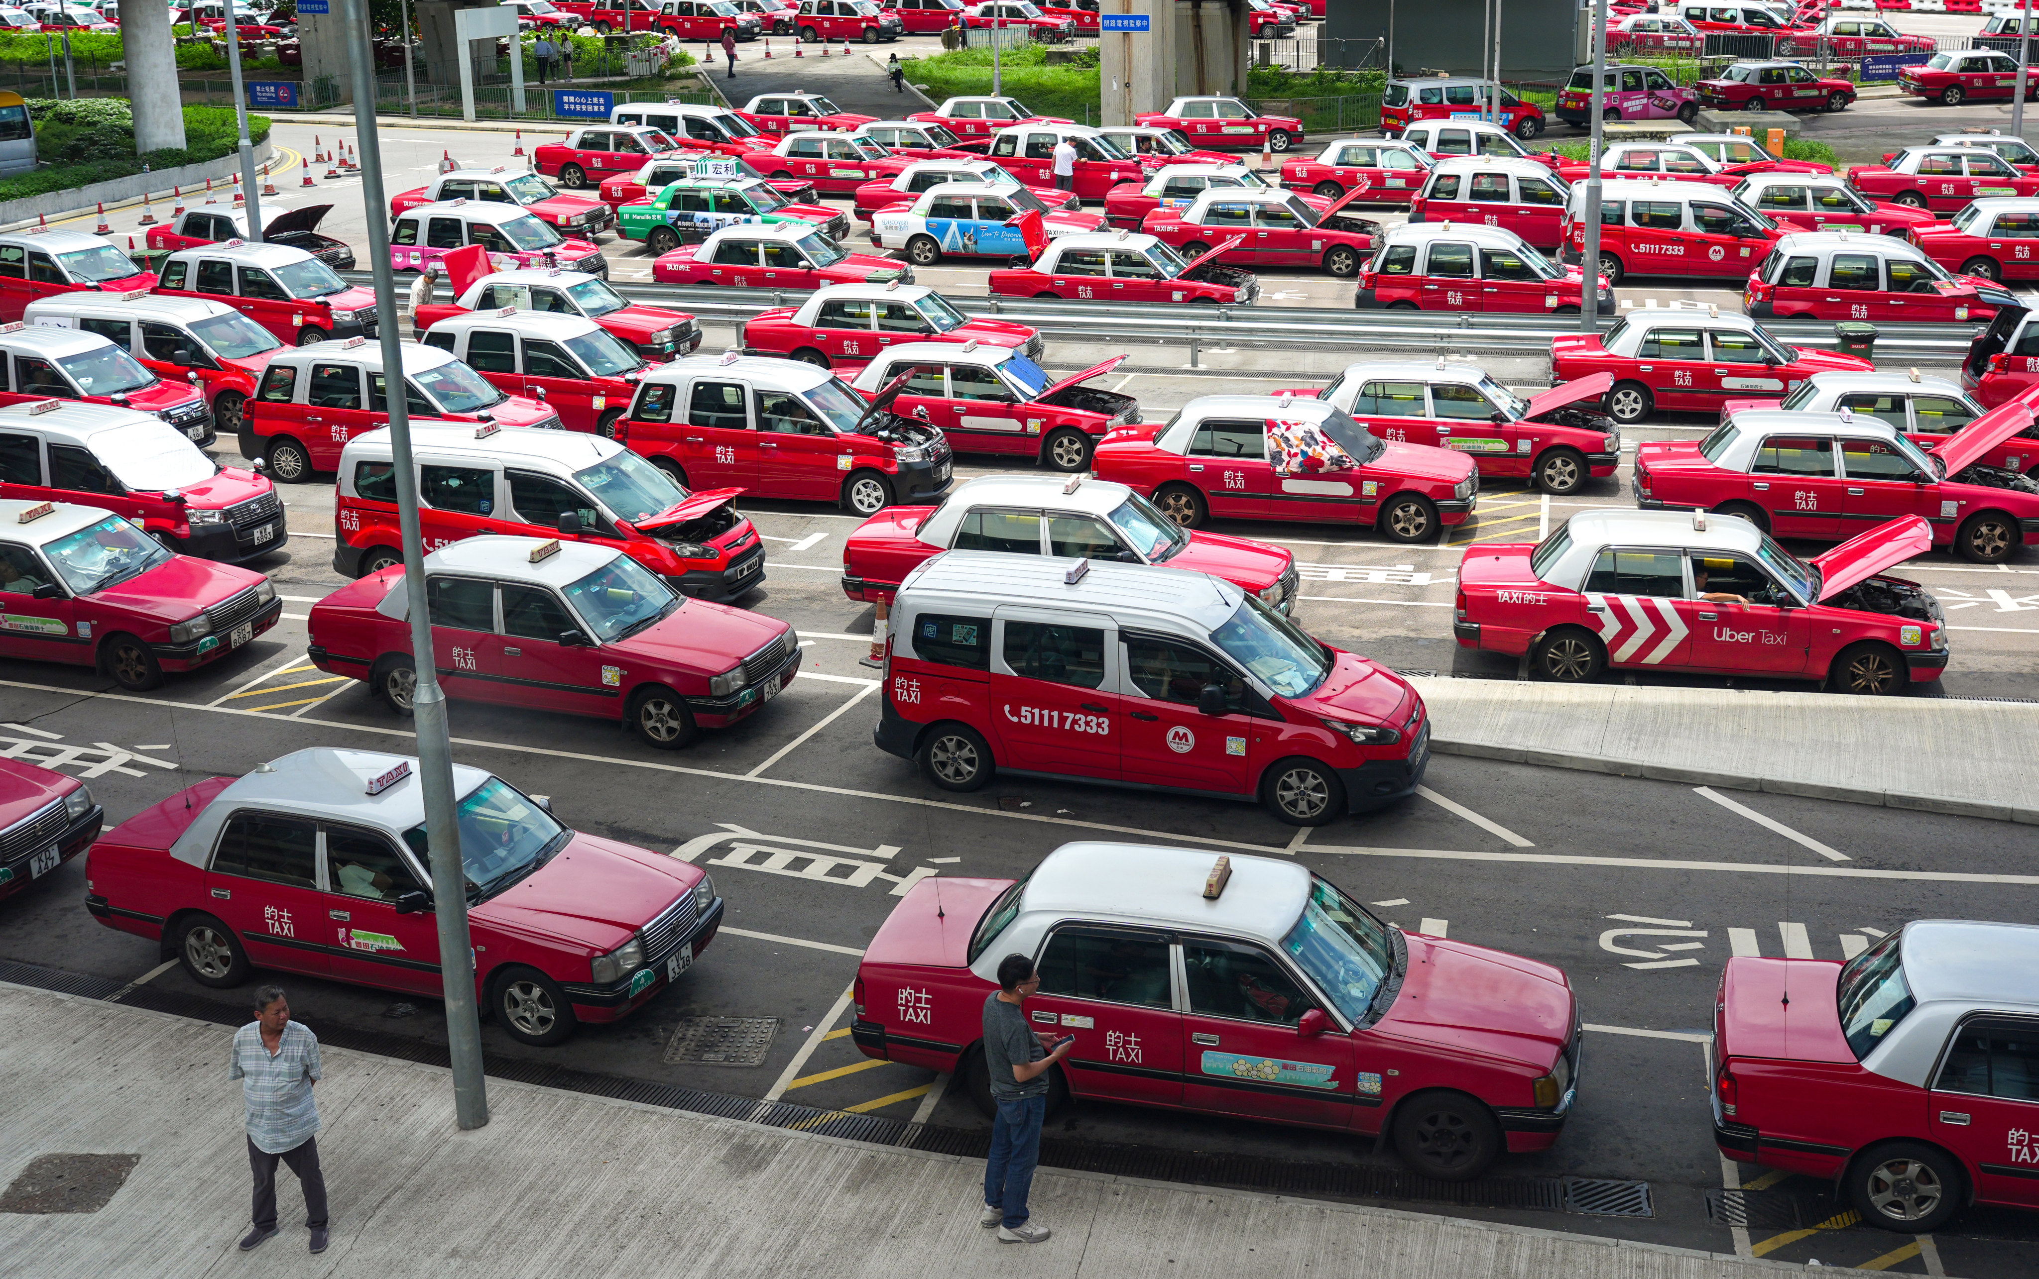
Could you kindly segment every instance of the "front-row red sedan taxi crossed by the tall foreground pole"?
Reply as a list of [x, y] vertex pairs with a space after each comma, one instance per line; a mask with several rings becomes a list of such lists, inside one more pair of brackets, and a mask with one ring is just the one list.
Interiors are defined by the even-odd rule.
[[[206, 778], [100, 837], [86, 910], [161, 941], [202, 986], [261, 965], [440, 998], [414, 768], [318, 747]], [[455, 764], [453, 788], [467, 882], [438, 890], [469, 894], [475, 996], [518, 1043], [628, 1016], [716, 937], [722, 898], [699, 868], [565, 827], [479, 768]]]

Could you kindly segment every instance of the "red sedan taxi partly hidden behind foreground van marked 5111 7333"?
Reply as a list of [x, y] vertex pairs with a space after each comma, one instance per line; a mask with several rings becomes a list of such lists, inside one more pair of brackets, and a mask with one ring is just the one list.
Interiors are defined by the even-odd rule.
[[891, 603], [899, 582], [944, 550], [1166, 564], [1225, 578], [1276, 613], [1293, 611], [1301, 589], [1289, 550], [1185, 530], [1126, 485], [985, 475], [938, 507], [889, 507], [865, 519], [842, 544], [842, 593]]

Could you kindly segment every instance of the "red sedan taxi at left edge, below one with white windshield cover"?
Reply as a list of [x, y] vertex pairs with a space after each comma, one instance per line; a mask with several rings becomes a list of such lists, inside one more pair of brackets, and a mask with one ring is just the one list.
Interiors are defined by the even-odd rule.
[[0, 499], [0, 656], [90, 666], [133, 692], [224, 658], [283, 613], [253, 568], [179, 556], [100, 507], [14, 499]]

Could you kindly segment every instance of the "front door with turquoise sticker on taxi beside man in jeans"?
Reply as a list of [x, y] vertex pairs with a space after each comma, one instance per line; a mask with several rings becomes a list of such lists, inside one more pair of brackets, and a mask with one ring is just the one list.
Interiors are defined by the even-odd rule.
[[1276, 955], [1244, 939], [1185, 937], [1183, 1104], [1246, 1118], [1348, 1128], [1360, 1104], [1354, 1043], [1336, 1026], [1301, 1037], [1317, 1008]]

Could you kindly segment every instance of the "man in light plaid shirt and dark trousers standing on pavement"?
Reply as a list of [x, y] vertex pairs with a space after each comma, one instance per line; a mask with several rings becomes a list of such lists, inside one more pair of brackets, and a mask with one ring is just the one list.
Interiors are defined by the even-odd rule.
[[[247, 1100], [249, 1167], [255, 1171], [255, 1228], [241, 1240], [249, 1253], [275, 1234], [275, 1165], [287, 1163], [304, 1187], [304, 1224], [312, 1250], [326, 1250], [326, 1177], [318, 1171], [320, 1079], [318, 1037], [290, 1020], [281, 986], [255, 988], [255, 1020], [234, 1031], [228, 1079], [241, 1079]], [[1038, 1124], [1036, 1124], [1038, 1130]]]

